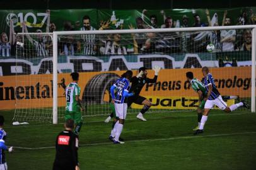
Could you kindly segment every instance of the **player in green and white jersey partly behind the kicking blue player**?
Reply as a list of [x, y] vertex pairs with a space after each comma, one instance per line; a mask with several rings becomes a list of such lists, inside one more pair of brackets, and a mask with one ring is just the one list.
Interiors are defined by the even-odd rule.
[[[199, 79], [194, 78], [193, 72], [187, 72], [186, 73], [187, 80], [190, 81], [192, 89], [198, 94], [199, 97], [199, 106], [197, 108], [197, 122], [198, 126], [195, 127], [193, 130], [199, 129], [201, 118], [202, 118], [202, 111], [204, 110], [204, 105], [206, 104], [206, 101], [204, 98], [207, 95], [206, 88], [204, 87], [204, 84], [202, 84]], [[222, 96], [223, 99], [237, 99], [238, 96]]]

